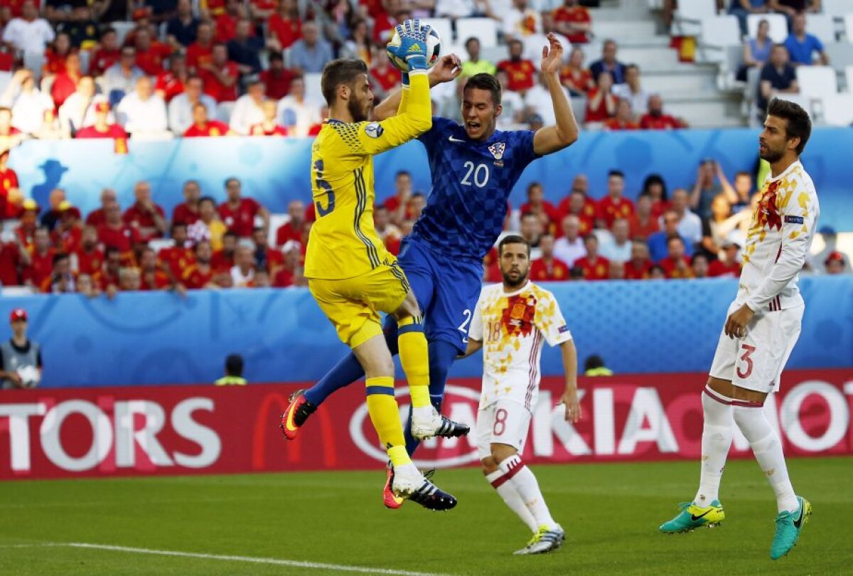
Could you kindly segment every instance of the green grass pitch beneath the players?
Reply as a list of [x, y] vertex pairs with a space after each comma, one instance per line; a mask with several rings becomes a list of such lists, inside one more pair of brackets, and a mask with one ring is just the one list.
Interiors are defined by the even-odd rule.
[[[815, 514], [791, 554], [769, 559], [775, 499], [752, 460], [729, 462], [722, 527], [658, 532], [693, 497], [699, 463], [533, 466], [563, 549], [512, 556], [530, 534], [477, 468], [441, 470], [459, 498], [449, 513], [413, 503], [386, 510], [383, 470], [0, 485], [2, 574], [341, 574], [206, 558], [27, 546], [111, 544], [223, 556], [441, 574], [851, 573], [853, 458], [792, 459], [794, 486]], [[25, 546], [21, 546], [25, 544]]]

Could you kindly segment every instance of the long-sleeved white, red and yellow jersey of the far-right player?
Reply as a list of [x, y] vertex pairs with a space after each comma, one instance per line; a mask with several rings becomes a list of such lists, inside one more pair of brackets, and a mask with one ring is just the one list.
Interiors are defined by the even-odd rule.
[[815, 184], [799, 160], [764, 181], [761, 201], [743, 250], [743, 271], [735, 302], [752, 311], [776, 311], [803, 304], [798, 287], [821, 207]]

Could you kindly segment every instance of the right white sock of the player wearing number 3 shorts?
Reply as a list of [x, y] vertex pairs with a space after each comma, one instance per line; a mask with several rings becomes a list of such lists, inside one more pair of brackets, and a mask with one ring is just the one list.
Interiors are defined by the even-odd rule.
[[794, 493], [791, 480], [788, 478], [788, 468], [785, 464], [785, 455], [782, 454], [782, 443], [775, 430], [770, 426], [764, 409], [759, 407], [746, 408], [734, 407], [734, 422], [737, 423], [740, 432], [744, 433], [752, 453], [773, 492], [776, 494], [776, 508], [779, 512], [788, 510], [795, 512], [799, 509], [797, 495]]

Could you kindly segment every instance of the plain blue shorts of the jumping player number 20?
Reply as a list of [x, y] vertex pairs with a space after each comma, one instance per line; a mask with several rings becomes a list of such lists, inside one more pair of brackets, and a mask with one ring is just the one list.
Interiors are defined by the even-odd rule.
[[427, 340], [465, 352], [468, 328], [483, 286], [483, 265], [450, 259], [423, 241], [405, 238], [397, 256], [424, 315]]

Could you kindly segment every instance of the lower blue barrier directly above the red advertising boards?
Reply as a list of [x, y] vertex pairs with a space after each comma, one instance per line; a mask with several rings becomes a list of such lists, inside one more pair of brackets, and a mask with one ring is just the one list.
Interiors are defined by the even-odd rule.
[[[853, 276], [805, 277], [803, 335], [792, 368], [853, 367]], [[620, 373], [705, 371], [734, 280], [568, 282], [550, 287], [560, 301], [583, 361], [600, 353]], [[225, 356], [241, 353], [249, 381], [310, 381], [341, 358], [345, 346], [308, 290], [227, 290], [119, 294], [87, 300], [39, 295], [0, 300], [30, 313], [44, 346], [44, 387], [199, 383], [221, 375]], [[9, 324], [0, 338], [9, 337]], [[479, 354], [456, 376], [480, 375]], [[561, 373], [555, 349], [543, 374]], [[851, 371], [853, 375], [853, 371]]]

